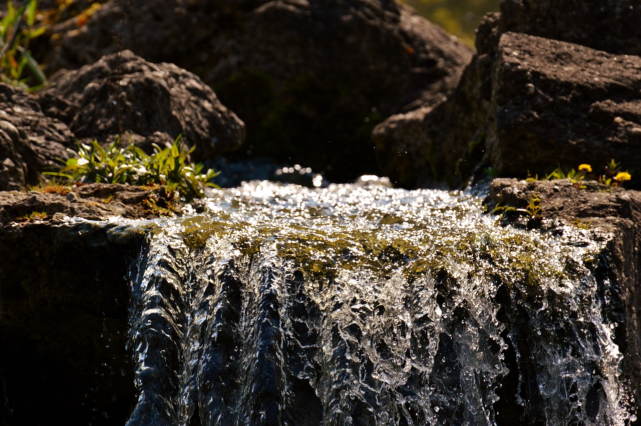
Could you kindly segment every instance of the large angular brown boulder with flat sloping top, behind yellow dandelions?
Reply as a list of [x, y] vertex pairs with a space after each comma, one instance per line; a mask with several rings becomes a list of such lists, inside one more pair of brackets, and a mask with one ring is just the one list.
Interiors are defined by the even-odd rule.
[[641, 163], [640, 57], [517, 33], [498, 50], [485, 147], [499, 174]]

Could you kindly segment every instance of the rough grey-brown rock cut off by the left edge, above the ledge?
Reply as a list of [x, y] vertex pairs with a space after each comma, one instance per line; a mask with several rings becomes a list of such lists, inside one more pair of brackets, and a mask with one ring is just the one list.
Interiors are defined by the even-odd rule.
[[69, 128], [46, 117], [32, 95], [0, 83], [0, 190], [37, 184], [40, 172], [67, 158], [73, 140]]

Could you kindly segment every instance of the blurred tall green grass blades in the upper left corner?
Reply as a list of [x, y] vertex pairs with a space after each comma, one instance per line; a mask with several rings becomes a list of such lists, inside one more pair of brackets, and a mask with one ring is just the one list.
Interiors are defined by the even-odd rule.
[[28, 0], [18, 7], [8, 1], [6, 6], [6, 15], [0, 20], [0, 80], [33, 92], [47, 82], [29, 53], [29, 42], [46, 30], [35, 27], [38, 1]]

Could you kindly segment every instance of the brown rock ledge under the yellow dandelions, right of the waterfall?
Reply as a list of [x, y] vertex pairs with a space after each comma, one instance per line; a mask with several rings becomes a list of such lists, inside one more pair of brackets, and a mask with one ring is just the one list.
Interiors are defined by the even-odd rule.
[[607, 274], [615, 295], [608, 301], [608, 315], [615, 341], [623, 355], [622, 377], [641, 404], [641, 192], [604, 186], [595, 181], [576, 188], [569, 179], [519, 181], [494, 179], [485, 202], [488, 209], [501, 204], [526, 208], [536, 195], [542, 217], [609, 235], [606, 247]]

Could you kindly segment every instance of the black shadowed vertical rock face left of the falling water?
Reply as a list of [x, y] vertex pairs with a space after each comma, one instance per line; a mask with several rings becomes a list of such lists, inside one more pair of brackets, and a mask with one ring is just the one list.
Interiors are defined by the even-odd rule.
[[0, 422], [123, 425], [135, 393], [125, 277], [144, 235], [87, 221], [1, 226], [0, 240]]

